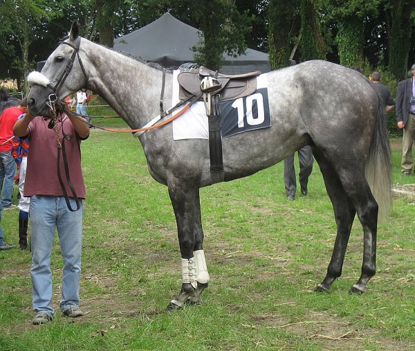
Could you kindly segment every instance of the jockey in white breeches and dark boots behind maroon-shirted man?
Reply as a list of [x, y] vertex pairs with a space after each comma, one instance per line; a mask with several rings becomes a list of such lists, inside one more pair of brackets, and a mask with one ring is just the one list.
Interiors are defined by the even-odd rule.
[[[19, 119], [23, 118], [24, 114], [19, 116]], [[26, 165], [29, 152], [29, 139], [13, 138], [12, 156], [16, 161], [17, 175], [15, 177], [17, 184], [19, 185], [19, 247], [21, 250], [25, 250], [28, 247], [28, 223], [29, 223], [29, 206], [30, 197], [25, 197], [24, 194], [24, 182], [26, 179]]]

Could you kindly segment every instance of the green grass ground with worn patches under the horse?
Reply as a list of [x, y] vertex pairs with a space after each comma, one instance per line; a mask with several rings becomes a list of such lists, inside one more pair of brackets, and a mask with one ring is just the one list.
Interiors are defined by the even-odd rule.
[[[400, 152], [393, 156], [394, 183], [415, 183], [400, 177]], [[380, 224], [378, 272], [366, 294], [347, 294], [362, 264], [358, 222], [343, 276], [330, 294], [315, 294], [335, 240], [317, 164], [308, 196], [295, 201], [286, 201], [282, 163], [203, 188], [210, 286], [201, 305], [167, 313], [181, 285], [167, 188], [151, 179], [129, 135], [92, 129], [82, 157], [87, 313], [73, 321], [57, 312], [53, 323], [31, 325], [30, 253], [0, 252], [0, 350], [414, 350], [413, 200], [394, 199], [391, 221]], [[2, 226], [7, 242], [17, 244], [16, 210], [3, 211]], [[57, 309], [57, 240], [52, 267]]]

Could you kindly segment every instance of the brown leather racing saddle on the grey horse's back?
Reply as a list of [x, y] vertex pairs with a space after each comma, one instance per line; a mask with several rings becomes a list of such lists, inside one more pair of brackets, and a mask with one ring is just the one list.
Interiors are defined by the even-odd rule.
[[[198, 96], [203, 92], [220, 95], [220, 100], [231, 100], [248, 96], [257, 90], [257, 76], [261, 71], [238, 75], [226, 75], [201, 66], [199, 69], [178, 74], [180, 85], [179, 98], [185, 100], [191, 96]], [[206, 77], [214, 78], [214, 85], [208, 91], [203, 91], [201, 82]]]

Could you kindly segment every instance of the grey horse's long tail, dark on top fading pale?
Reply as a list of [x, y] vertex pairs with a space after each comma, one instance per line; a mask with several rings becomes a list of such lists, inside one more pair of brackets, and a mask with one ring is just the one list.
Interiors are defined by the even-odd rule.
[[366, 160], [366, 179], [379, 206], [378, 222], [389, 220], [392, 206], [391, 147], [385, 116], [385, 106], [379, 98], [374, 132]]

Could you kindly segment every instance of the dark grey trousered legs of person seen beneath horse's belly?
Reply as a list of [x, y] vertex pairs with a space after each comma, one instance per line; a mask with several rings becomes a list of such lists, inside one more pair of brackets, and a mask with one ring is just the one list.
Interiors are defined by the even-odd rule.
[[[299, 160], [299, 185], [301, 186], [302, 195], [306, 196], [308, 194], [308, 177], [310, 177], [311, 171], [313, 170], [313, 152], [311, 151], [311, 147], [309, 145], [302, 147], [297, 152]], [[297, 190], [297, 182], [295, 181], [294, 154], [288, 156], [284, 160], [284, 185], [288, 200], [293, 201]]]

